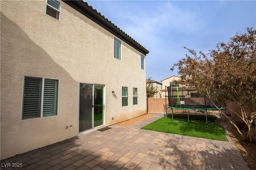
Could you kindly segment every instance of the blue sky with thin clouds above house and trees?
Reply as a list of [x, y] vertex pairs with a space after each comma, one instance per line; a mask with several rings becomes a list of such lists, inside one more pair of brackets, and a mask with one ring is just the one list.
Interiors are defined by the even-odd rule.
[[256, 1], [89, 0], [90, 6], [150, 52], [146, 77], [160, 82], [177, 71], [170, 67], [188, 47], [208, 53], [237, 32], [256, 28]]

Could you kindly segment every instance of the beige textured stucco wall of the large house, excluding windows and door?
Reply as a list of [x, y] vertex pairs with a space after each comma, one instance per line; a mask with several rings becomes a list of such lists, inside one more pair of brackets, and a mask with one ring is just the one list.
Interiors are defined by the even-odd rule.
[[[105, 85], [106, 126], [146, 114], [140, 52], [121, 41], [122, 60], [115, 59], [116, 37], [64, 2], [60, 21], [45, 14], [46, 1], [0, 3], [1, 160], [76, 136], [80, 81]], [[24, 76], [59, 79], [57, 116], [22, 120]], [[138, 105], [132, 105], [133, 87]]]

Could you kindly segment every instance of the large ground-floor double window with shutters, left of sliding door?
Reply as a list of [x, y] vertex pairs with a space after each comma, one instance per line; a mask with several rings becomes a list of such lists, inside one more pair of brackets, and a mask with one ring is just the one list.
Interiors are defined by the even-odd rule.
[[57, 106], [58, 80], [25, 77], [22, 119], [57, 115]]

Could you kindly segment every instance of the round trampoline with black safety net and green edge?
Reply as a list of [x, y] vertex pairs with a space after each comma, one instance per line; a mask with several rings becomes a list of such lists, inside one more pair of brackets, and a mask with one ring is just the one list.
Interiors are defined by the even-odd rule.
[[[180, 92], [178, 86], [174, 87], [170, 83], [169, 87], [166, 87], [168, 90], [168, 105], [164, 106], [165, 108], [165, 117], [167, 117], [167, 109], [172, 110], [172, 121], [174, 120], [174, 113], [173, 110], [183, 110], [188, 111], [188, 121], [178, 121], [182, 123], [188, 123], [189, 122], [189, 111], [202, 111], [205, 112], [206, 114], [206, 123], [208, 124], [207, 121], [207, 113], [210, 115], [210, 111], [219, 111], [219, 114], [222, 116], [222, 110], [225, 110], [220, 106], [219, 103], [215, 102], [214, 104], [218, 107], [216, 108], [208, 99], [205, 97], [201, 97], [200, 95], [192, 95], [191, 94], [191, 89], [182, 89], [182, 100], [180, 100]], [[189, 93], [190, 92], [190, 93]], [[191, 97], [192, 96], [192, 97]], [[210, 123], [211, 124], [216, 124], [216, 123]]]

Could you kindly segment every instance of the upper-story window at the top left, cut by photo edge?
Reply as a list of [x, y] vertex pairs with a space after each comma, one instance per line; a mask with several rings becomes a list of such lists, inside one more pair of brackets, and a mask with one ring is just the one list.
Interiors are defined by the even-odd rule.
[[56, 0], [47, 0], [46, 14], [60, 20], [60, 2]]

